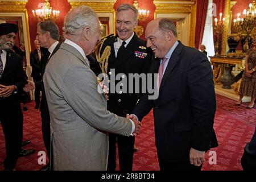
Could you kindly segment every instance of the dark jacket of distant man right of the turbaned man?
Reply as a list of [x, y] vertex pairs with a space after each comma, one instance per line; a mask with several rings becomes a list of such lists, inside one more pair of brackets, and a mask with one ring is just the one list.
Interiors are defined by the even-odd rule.
[[[41, 58], [43, 57], [43, 52], [41, 51]], [[31, 77], [33, 77], [34, 81], [41, 81], [41, 69], [40, 69], [40, 60], [38, 55], [38, 50], [35, 49], [34, 51], [31, 51], [30, 53], [30, 65], [32, 67], [32, 73]]]

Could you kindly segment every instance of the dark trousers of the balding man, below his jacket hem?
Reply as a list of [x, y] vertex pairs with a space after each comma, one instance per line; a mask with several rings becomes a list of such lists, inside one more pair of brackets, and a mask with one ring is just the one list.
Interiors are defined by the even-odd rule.
[[188, 162], [167, 162], [158, 155], [160, 171], [201, 171], [203, 165], [197, 167]]

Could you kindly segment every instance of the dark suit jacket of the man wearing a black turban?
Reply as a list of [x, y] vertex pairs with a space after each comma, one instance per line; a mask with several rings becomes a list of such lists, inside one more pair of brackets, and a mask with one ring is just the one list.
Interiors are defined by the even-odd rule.
[[6, 86], [16, 85], [17, 89], [9, 97], [0, 97], [0, 104], [4, 104], [5, 102], [19, 102], [18, 94], [26, 82], [26, 77], [22, 68], [22, 57], [13, 51], [7, 51], [6, 65], [2, 77], [0, 78], [0, 84]]

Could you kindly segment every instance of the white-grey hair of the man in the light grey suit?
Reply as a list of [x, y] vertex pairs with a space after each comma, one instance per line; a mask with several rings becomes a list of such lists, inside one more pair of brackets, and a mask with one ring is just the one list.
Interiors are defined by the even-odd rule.
[[97, 27], [98, 15], [88, 6], [79, 6], [69, 11], [64, 18], [64, 34], [79, 35], [85, 27], [91, 28], [92, 32]]

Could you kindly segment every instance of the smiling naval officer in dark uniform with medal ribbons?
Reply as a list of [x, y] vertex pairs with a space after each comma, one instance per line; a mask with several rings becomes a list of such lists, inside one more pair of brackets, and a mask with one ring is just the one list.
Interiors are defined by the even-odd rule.
[[[111, 47], [111, 53], [108, 61], [108, 75], [114, 73], [110, 69], [115, 69], [115, 75], [121, 73], [123, 78], [127, 76], [127, 81], [124, 81], [122, 88], [129, 86], [129, 73], [147, 73], [152, 60], [152, 52], [146, 48], [146, 42], [139, 39], [134, 33], [134, 28], [138, 24], [138, 10], [129, 4], [121, 4], [117, 8], [115, 31], [117, 36], [108, 37], [103, 43], [101, 55], [107, 46]], [[97, 73], [96, 73], [97, 75]], [[125, 78], [125, 79], [126, 79]], [[115, 83], [118, 86], [120, 82]], [[138, 85], [136, 85], [138, 86]], [[115, 88], [115, 87], [114, 87]], [[133, 86], [135, 88], [135, 86]], [[133, 110], [141, 94], [137, 93], [113, 93], [110, 90], [108, 101], [108, 110], [119, 116], [125, 116]], [[133, 168], [133, 153], [134, 153], [134, 137], [125, 137], [116, 134], [109, 134], [109, 162], [108, 170], [115, 170], [115, 143], [118, 143], [119, 166], [121, 171], [131, 171]]]

